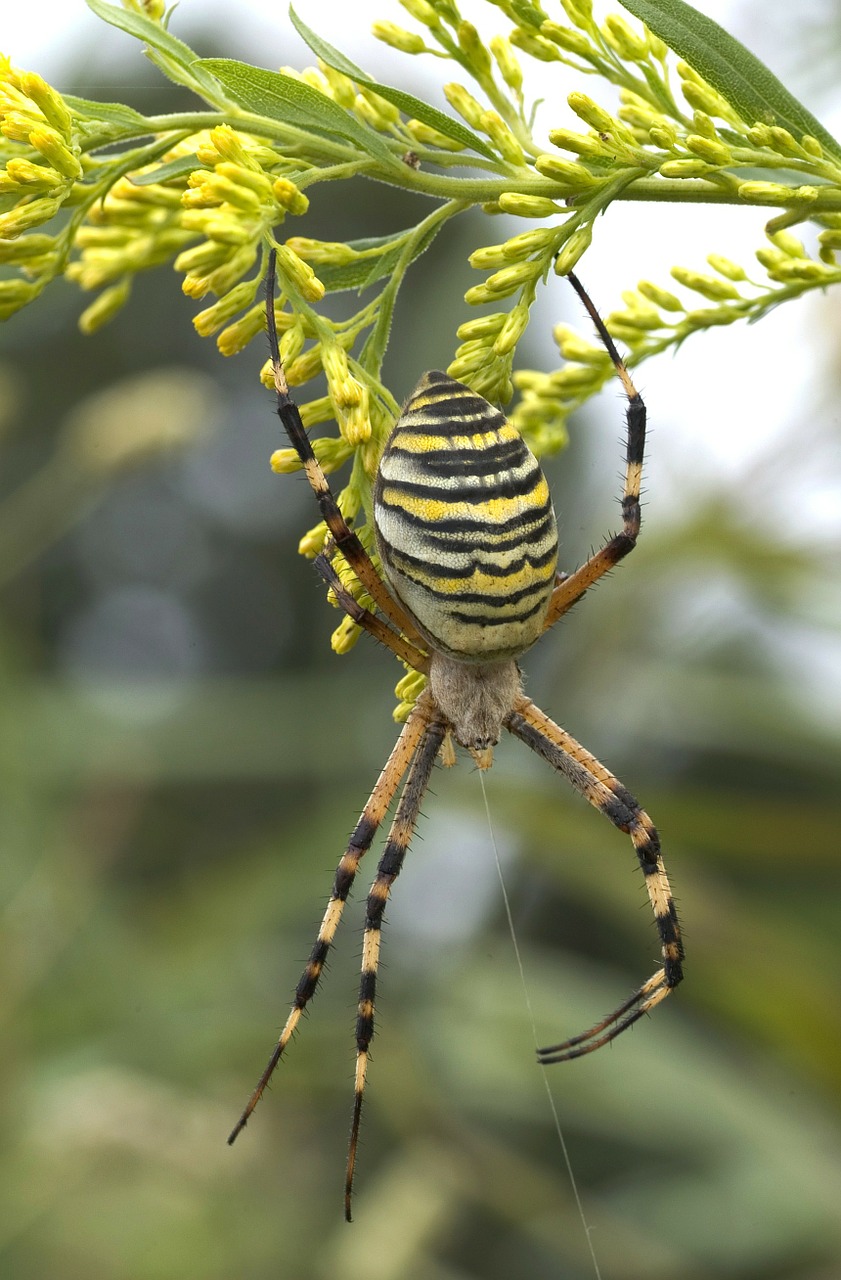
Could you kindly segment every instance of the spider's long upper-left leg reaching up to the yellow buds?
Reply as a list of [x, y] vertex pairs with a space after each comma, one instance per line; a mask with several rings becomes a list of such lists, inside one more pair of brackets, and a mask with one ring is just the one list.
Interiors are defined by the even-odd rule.
[[280, 364], [278, 326], [274, 316], [275, 278], [276, 259], [273, 250], [269, 255], [269, 270], [266, 273], [266, 330], [269, 333], [269, 352], [271, 355], [271, 366], [274, 370], [274, 385], [278, 393], [278, 417], [283, 422], [285, 433], [289, 436], [289, 443], [303, 463], [303, 471], [310, 483], [310, 488], [315, 494], [324, 522], [328, 526], [338, 550], [342, 556], [344, 556], [346, 561], [376, 604], [378, 609], [385, 614], [398, 631], [402, 631], [403, 635], [408, 636], [410, 640], [422, 644], [411, 618], [392, 599], [385, 584], [371, 563], [367, 552], [362, 547], [358, 535], [349, 527], [342, 515], [321, 465], [312, 452], [310, 436], [307, 435], [303, 422], [301, 421], [298, 407], [289, 396], [289, 385], [287, 383], [285, 374], [283, 372], [283, 365]]

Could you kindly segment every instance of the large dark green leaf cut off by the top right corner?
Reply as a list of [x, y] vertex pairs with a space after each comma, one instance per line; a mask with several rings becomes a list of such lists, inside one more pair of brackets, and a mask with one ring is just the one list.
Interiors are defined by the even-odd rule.
[[622, 0], [635, 18], [708, 81], [748, 124], [772, 124], [795, 138], [810, 133], [836, 159], [841, 145], [764, 63], [684, 0]]

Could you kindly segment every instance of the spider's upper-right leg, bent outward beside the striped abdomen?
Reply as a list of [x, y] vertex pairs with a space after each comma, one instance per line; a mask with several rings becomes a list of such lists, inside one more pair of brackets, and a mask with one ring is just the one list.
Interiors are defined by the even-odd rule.
[[584, 593], [594, 582], [598, 582], [603, 573], [607, 573], [629, 552], [634, 550], [640, 531], [640, 485], [643, 481], [643, 454], [645, 452], [645, 404], [629, 376], [629, 371], [604, 326], [604, 321], [584, 291], [581, 282], [572, 271], [568, 274], [568, 280], [586, 307], [627, 396], [627, 454], [625, 461], [625, 490], [622, 493], [622, 532], [614, 534], [613, 538], [608, 539], [600, 550], [590, 556], [575, 573], [570, 573], [568, 577], [556, 586], [549, 600], [544, 631], [554, 626], [558, 618], [567, 609], [571, 609]]

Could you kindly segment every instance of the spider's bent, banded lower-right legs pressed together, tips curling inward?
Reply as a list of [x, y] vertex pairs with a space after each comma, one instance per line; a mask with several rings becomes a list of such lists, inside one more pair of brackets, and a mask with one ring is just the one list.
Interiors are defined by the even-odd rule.
[[554, 721], [550, 721], [527, 698], [517, 699], [515, 709], [508, 714], [504, 724], [526, 746], [543, 756], [553, 769], [562, 773], [575, 790], [605, 818], [609, 818], [620, 831], [630, 835], [645, 876], [645, 887], [654, 911], [663, 955], [663, 966], [608, 1018], [580, 1036], [539, 1050], [540, 1061], [548, 1065], [581, 1057], [584, 1053], [590, 1053], [602, 1044], [609, 1043], [643, 1014], [650, 1012], [662, 1000], [666, 1000], [684, 977], [684, 946], [675, 899], [661, 856], [657, 829], [630, 791], [594, 755], [590, 755], [580, 742], [576, 742]]

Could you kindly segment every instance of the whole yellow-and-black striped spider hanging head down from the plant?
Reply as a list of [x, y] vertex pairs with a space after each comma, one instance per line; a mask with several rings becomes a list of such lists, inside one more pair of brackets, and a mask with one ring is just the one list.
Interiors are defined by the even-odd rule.
[[[289, 397], [274, 316], [274, 252], [269, 260], [266, 328], [278, 415], [301, 458], [332, 539], [328, 552], [316, 558], [316, 567], [355, 622], [428, 676], [428, 686], [411, 710], [338, 864], [333, 892], [280, 1038], [228, 1138], [233, 1143], [247, 1124], [315, 995], [360, 860], [403, 782], [365, 915], [353, 1117], [344, 1181], [348, 1222], [374, 1036], [383, 913], [403, 865], [435, 760], [440, 755], [444, 764], [454, 764], [454, 742], [470, 751], [480, 769], [486, 769], [502, 730], [508, 730], [562, 773], [620, 831], [630, 835], [645, 877], [659, 932], [662, 966], [589, 1030], [538, 1050], [539, 1061], [565, 1062], [609, 1043], [659, 1005], [682, 977], [680, 925], [652, 819], [595, 756], [525, 696], [516, 660], [634, 549], [640, 529], [645, 406], [585, 289], [572, 273], [568, 280], [627, 396], [622, 531], [575, 572], [558, 573], [556, 518], [536, 458], [486, 399], [443, 372], [428, 372], [403, 406], [378, 467], [374, 525], [383, 579], [342, 516]], [[364, 608], [342, 586], [330, 563], [333, 552], [344, 556], [376, 612]]]

